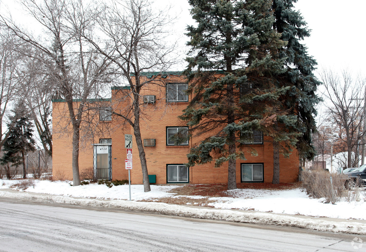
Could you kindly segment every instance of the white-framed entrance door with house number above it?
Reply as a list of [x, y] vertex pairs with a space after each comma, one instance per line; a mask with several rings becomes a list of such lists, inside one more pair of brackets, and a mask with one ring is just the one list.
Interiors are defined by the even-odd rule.
[[94, 176], [97, 179], [112, 179], [112, 145], [96, 144], [93, 148]]

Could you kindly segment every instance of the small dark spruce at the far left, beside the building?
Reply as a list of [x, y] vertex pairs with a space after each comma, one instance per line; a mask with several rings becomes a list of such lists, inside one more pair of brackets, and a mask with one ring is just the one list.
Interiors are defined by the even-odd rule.
[[30, 114], [23, 105], [20, 105], [13, 112], [15, 115], [9, 119], [14, 124], [7, 124], [10, 134], [4, 142], [4, 154], [0, 159], [0, 164], [11, 164], [13, 167], [19, 167], [22, 164], [23, 178], [26, 178], [25, 154], [36, 150], [34, 148], [33, 124], [29, 121]]

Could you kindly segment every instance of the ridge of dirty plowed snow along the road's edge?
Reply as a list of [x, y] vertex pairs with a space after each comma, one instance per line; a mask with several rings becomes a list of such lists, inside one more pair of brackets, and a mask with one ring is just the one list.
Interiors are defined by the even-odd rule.
[[36, 202], [63, 203], [79, 206], [108, 207], [110, 209], [148, 211], [150, 213], [176, 215], [187, 218], [216, 219], [252, 224], [290, 226], [318, 231], [366, 234], [365, 220], [314, 218], [302, 215], [291, 216], [286, 214], [262, 213], [257, 211], [212, 209], [206, 207], [171, 205], [159, 202], [135, 202], [123, 200], [76, 198], [69, 196], [19, 192], [10, 189], [1, 189], [0, 197], [31, 200]]

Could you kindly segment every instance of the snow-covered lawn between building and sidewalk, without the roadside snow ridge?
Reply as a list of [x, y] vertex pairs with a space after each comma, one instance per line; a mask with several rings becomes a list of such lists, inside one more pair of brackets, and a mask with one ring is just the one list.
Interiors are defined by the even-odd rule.
[[[19, 180], [0, 180], [0, 189], [12, 188]], [[34, 186], [26, 192], [45, 193], [62, 196], [73, 196], [91, 199], [129, 199], [128, 185], [112, 186], [105, 184], [88, 184], [72, 187], [71, 182], [48, 180], [34, 180]], [[310, 199], [301, 189], [291, 190], [263, 190], [263, 189], [236, 189], [228, 192], [233, 197], [205, 197], [180, 196], [169, 192], [180, 186], [151, 186], [150, 192], [143, 192], [142, 185], [131, 185], [132, 201], [156, 201], [165, 197], [186, 197], [209, 200], [209, 206], [221, 209], [254, 210], [261, 212], [309, 215], [316, 217], [333, 217], [343, 219], [366, 219], [365, 193], [360, 194], [359, 202], [337, 202], [336, 204], [323, 203], [324, 199]], [[19, 190], [19, 188], [13, 188]], [[22, 191], [22, 190], [20, 190]], [[198, 203], [189, 203], [197, 205]]]

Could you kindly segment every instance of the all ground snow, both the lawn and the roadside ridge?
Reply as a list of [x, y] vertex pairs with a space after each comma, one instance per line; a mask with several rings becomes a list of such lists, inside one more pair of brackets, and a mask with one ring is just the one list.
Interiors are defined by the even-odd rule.
[[[314, 229], [330, 232], [346, 232], [366, 234], [366, 224], [360, 221], [332, 221], [317, 218], [295, 217], [281, 214], [301, 214], [319, 217], [365, 219], [365, 198], [361, 202], [337, 202], [336, 205], [322, 203], [320, 199], [310, 199], [300, 189], [293, 190], [258, 190], [236, 189], [229, 193], [232, 197], [208, 198], [204, 196], [188, 196], [191, 199], [207, 198], [213, 200], [210, 206], [214, 208], [192, 208], [183, 205], [171, 205], [160, 202], [138, 202], [143, 199], [162, 197], [180, 197], [169, 191], [179, 186], [151, 186], [150, 192], [143, 192], [143, 185], [131, 185], [131, 199], [129, 198], [128, 185], [112, 186], [89, 184], [72, 187], [70, 182], [51, 182], [35, 180], [34, 186], [26, 190], [14, 188], [12, 185], [22, 180], [0, 180], [0, 189], [13, 188], [24, 191], [16, 193], [0, 191], [1, 197], [11, 197], [40, 202], [56, 202], [81, 206], [108, 207], [125, 210], [150, 211], [154, 213], [177, 215], [188, 218], [219, 219], [235, 222], [255, 224], [274, 224]], [[29, 193], [27, 193], [29, 192]], [[32, 194], [43, 193], [43, 194]], [[52, 195], [53, 194], [53, 195]], [[72, 196], [72, 197], [70, 197]], [[73, 198], [82, 197], [82, 198]], [[187, 197], [187, 196], [182, 196]], [[223, 208], [223, 209], [218, 209]], [[225, 210], [230, 209], [230, 210]], [[232, 210], [234, 209], [234, 210]], [[256, 210], [256, 211], [238, 211]], [[269, 213], [264, 213], [269, 212]]]

